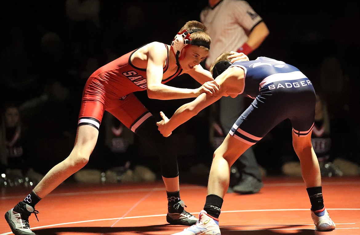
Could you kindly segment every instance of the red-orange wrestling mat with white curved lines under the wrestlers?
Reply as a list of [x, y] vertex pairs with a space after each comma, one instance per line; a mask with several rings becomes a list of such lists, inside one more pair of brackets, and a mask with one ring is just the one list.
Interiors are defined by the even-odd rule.
[[[181, 177], [181, 176], [180, 176]], [[182, 184], [186, 210], [197, 216], [206, 187]], [[3, 215], [29, 188], [1, 188]], [[310, 202], [301, 178], [264, 178], [257, 194], [228, 193], [220, 215], [222, 235], [354, 235], [360, 234], [360, 177], [323, 178], [324, 203], [337, 229], [315, 232]], [[162, 182], [84, 185], [63, 183], [36, 205], [39, 222], [30, 217], [37, 235], [167, 235], [186, 226], [168, 225]], [[12, 234], [4, 217], [0, 235]]]

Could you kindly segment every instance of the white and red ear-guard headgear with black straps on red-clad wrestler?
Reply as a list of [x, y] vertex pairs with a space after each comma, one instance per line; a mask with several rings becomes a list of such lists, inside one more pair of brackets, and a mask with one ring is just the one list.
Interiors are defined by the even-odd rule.
[[210, 43], [206, 43], [204, 41], [196, 41], [196, 40], [191, 39], [190, 34], [192, 34], [193, 32], [198, 32], [198, 31], [205, 32], [201, 28], [194, 28], [192, 30], [183, 30], [182, 32], [177, 33], [174, 37], [174, 40], [172, 40], [171, 48], [175, 54], [176, 64], [178, 66], [180, 66], [179, 57], [181, 56], [181, 52], [184, 49], [184, 47], [186, 46], [186, 44], [204, 46], [207, 49], [210, 49]]

